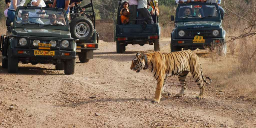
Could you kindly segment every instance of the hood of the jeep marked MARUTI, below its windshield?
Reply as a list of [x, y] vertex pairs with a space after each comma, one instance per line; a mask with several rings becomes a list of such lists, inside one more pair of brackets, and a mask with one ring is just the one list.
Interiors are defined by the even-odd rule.
[[175, 26], [180, 28], [220, 28], [221, 21], [190, 21], [190, 22], [179, 22], [175, 23]]

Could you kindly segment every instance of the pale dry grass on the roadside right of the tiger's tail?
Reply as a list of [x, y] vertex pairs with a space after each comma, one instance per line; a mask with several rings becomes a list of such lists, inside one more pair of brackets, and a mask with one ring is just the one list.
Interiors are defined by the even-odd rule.
[[256, 49], [255, 38], [228, 46], [227, 56], [221, 56], [218, 61], [212, 61], [211, 57], [201, 58], [204, 73], [221, 90], [256, 98], [256, 56], [251, 58]]

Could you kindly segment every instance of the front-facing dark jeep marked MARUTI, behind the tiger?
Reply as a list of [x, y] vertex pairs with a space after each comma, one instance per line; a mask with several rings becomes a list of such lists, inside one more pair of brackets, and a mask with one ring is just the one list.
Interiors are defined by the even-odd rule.
[[[216, 3], [190, 2], [176, 9], [175, 29], [171, 34], [171, 52], [220, 46], [227, 53], [226, 32], [221, 26], [221, 15]], [[216, 45], [217, 44], [217, 45]]]

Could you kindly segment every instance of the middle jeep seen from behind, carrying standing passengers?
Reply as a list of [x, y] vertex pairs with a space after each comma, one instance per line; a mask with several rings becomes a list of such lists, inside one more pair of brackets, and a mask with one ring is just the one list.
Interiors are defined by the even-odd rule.
[[[123, 7], [123, 2], [127, 0], [119, 0], [117, 9], [117, 24], [116, 24], [116, 52], [125, 52], [125, 46], [128, 44], [154, 44], [154, 51], [160, 51], [160, 24], [156, 10], [154, 9], [153, 24], [147, 24], [144, 19], [136, 19], [136, 22], [143, 20], [142, 24], [122, 24], [120, 20], [120, 11]], [[154, 2], [153, 2], [154, 5]], [[155, 5], [154, 5], [155, 7]], [[130, 20], [131, 21], [131, 20]]]

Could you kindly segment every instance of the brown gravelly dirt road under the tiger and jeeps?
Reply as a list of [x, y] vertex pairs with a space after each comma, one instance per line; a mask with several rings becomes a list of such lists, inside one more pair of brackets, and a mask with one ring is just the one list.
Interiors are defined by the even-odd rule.
[[[160, 44], [170, 51], [169, 41]], [[20, 63], [17, 74], [0, 67], [0, 128], [256, 127], [256, 101], [221, 91], [218, 80], [207, 85], [204, 99], [195, 99], [199, 89], [189, 76], [186, 95], [176, 98], [180, 85], [169, 77], [172, 97], [151, 103], [156, 81], [149, 70], [135, 73], [130, 65], [136, 51], [152, 52], [153, 45], [128, 45], [123, 54], [114, 42], [99, 47], [88, 63], [76, 60], [74, 75], [48, 64]]]

